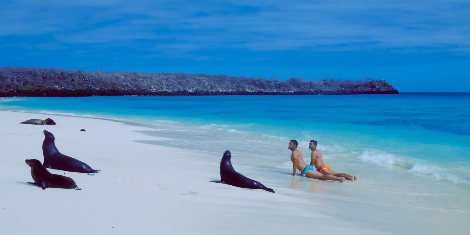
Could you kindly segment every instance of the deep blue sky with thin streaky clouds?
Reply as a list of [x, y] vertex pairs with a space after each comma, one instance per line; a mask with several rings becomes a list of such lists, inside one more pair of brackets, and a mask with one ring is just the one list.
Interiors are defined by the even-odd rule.
[[0, 0], [0, 66], [470, 92], [470, 1]]

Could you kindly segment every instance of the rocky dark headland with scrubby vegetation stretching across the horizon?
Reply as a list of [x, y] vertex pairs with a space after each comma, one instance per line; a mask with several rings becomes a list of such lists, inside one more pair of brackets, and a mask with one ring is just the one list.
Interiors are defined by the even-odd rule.
[[398, 94], [384, 80], [287, 81], [226, 75], [0, 67], [0, 97], [91, 95]]

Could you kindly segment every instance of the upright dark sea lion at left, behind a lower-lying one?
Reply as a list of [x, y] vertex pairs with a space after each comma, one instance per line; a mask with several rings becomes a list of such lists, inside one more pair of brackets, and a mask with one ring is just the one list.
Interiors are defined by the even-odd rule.
[[68, 172], [89, 173], [93, 175], [100, 170], [93, 170], [89, 165], [73, 157], [63, 155], [55, 147], [55, 137], [52, 133], [44, 130], [44, 141], [42, 142], [42, 154], [44, 155], [44, 167], [54, 168]]

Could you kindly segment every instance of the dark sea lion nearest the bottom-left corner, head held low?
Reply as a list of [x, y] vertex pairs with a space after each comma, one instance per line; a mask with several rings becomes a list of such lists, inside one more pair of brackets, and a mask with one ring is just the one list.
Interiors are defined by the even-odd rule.
[[35, 184], [42, 189], [46, 188], [74, 188], [76, 190], [82, 190], [78, 188], [75, 181], [67, 176], [52, 174], [39, 162], [37, 159], [26, 159], [26, 164], [31, 167], [31, 176], [34, 182], [28, 182]]

